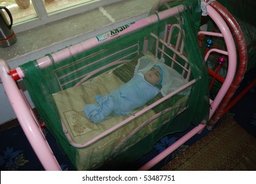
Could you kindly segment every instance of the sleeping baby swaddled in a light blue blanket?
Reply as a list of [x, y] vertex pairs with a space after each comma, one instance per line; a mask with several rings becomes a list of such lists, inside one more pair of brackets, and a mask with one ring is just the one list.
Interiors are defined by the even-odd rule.
[[130, 114], [160, 92], [157, 85], [161, 85], [162, 81], [163, 68], [158, 64], [153, 64], [146, 71], [138, 70], [130, 81], [109, 95], [96, 96], [95, 100], [98, 104], [86, 104], [84, 113], [94, 123], [105, 120], [109, 114]]

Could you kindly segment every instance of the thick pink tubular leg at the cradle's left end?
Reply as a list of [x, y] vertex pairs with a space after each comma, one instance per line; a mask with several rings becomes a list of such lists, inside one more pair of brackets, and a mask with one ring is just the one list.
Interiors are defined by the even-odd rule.
[[7, 66], [7, 63], [4, 60], [0, 60], [0, 78], [3, 87], [30, 145], [36, 152], [36, 155], [45, 170], [61, 170], [47, 140], [30, 113], [15, 81], [9, 76], [8, 71], [9, 67]]

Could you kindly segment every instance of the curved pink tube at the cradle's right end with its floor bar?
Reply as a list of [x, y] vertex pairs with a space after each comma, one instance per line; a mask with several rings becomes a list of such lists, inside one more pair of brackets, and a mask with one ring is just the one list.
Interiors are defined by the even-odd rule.
[[[224, 98], [226, 92], [230, 88], [230, 85], [232, 81], [234, 80], [234, 76], [236, 74], [236, 46], [234, 44], [234, 39], [232, 37], [232, 34], [226, 25], [226, 22], [223, 20], [223, 18], [218, 14], [211, 5], [207, 5], [207, 14], [214, 20], [214, 22], [217, 24], [218, 28], [220, 28], [221, 34], [215, 34], [211, 32], [205, 32], [205, 34], [208, 35], [215, 35], [219, 37], [224, 37], [226, 47], [227, 47], [227, 52], [226, 51], [217, 51], [220, 53], [224, 53], [225, 55], [228, 55], [228, 74], [226, 76], [226, 80], [224, 81], [222, 87], [220, 88], [220, 91], [217, 94], [217, 97], [215, 98], [214, 101], [211, 101], [211, 108], [210, 108], [210, 114], [209, 114], [209, 120], [213, 116], [215, 110], [217, 109], [218, 105]], [[216, 50], [215, 50], [216, 51]], [[208, 55], [207, 55], [208, 57]], [[206, 58], [205, 58], [206, 60]], [[152, 160], [141, 166], [139, 168], [140, 171], [142, 170], [150, 170], [155, 164], [159, 163], [161, 160], [166, 158], [170, 153], [172, 153], [174, 150], [178, 149], [181, 145], [186, 143], [190, 138], [192, 138], [194, 135], [197, 133], [200, 133], [205, 126], [207, 125], [207, 122], [209, 120], [203, 120], [201, 124], [199, 124], [197, 127], [194, 127], [191, 131], [189, 131], [184, 137], [180, 138], [178, 141], [176, 141], [174, 144], [170, 145], [167, 149], [165, 149], [163, 152], [155, 156]]]

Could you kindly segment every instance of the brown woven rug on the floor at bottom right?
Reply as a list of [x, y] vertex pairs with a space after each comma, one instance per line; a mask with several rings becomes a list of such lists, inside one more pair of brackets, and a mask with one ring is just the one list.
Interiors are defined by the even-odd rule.
[[230, 117], [161, 170], [256, 170], [256, 139]]

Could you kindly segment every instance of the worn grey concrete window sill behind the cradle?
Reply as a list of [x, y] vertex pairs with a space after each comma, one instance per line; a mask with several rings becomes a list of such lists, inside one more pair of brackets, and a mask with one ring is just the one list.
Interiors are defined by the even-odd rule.
[[154, 4], [155, 0], [121, 1], [21, 32], [16, 34], [14, 45], [0, 48], [1, 58], [7, 60], [11, 68], [16, 68], [47, 53], [140, 20], [147, 16]]

